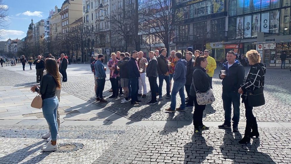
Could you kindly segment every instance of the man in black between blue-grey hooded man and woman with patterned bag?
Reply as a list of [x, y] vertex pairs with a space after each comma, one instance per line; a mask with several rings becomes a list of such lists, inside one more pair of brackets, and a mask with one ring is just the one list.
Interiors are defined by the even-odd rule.
[[186, 99], [186, 108], [193, 108], [193, 101], [194, 98], [190, 95], [190, 87], [192, 84], [193, 80], [193, 71], [194, 71], [194, 63], [195, 60], [192, 58], [193, 53], [192, 52], [186, 52], [186, 60], [187, 60], [187, 66], [186, 66], [186, 84], [185, 84], [185, 89], [187, 93], [187, 98]]

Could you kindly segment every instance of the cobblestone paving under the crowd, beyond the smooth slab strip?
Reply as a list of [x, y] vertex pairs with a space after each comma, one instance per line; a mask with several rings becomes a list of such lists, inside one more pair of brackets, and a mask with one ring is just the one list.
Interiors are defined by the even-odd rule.
[[[21, 71], [21, 66], [4, 67], [0, 69], [2, 86], [30, 86], [35, 83], [35, 70]], [[249, 67], [245, 68], [246, 74]], [[130, 103], [121, 104], [122, 98], [117, 100], [107, 98], [108, 103], [96, 103], [94, 93], [94, 78], [93, 73], [90, 73], [88, 64], [74, 64], [68, 67], [68, 82], [63, 83], [62, 89], [76, 97], [79, 97], [88, 102], [92, 102], [99, 107], [119, 114], [130, 120], [176, 120], [176, 121], [191, 121], [193, 119], [193, 109], [188, 108], [186, 112], [166, 113], [165, 109], [170, 107], [170, 99], [159, 101], [156, 105], [146, 105], [150, 100], [151, 94], [147, 94], [147, 98], [139, 98], [142, 100], [140, 105], [131, 105]], [[107, 71], [108, 73], [108, 71]], [[205, 121], [223, 121], [224, 111], [221, 99], [222, 85], [218, 78], [219, 68], [216, 69], [213, 78], [213, 89], [216, 101], [211, 105], [206, 105], [204, 111]], [[260, 122], [291, 122], [290, 105], [290, 76], [289, 70], [267, 69], [265, 77], [265, 99], [266, 104], [261, 107], [254, 108], [254, 115]], [[109, 75], [107, 75], [109, 77]], [[148, 80], [146, 80], [147, 89], [149, 89]], [[165, 82], [164, 82], [165, 86]], [[107, 78], [104, 95], [110, 96], [107, 92], [111, 87], [109, 78]], [[163, 87], [163, 94], [165, 94]], [[186, 92], [185, 92], [186, 93]], [[179, 94], [177, 95], [177, 107], [180, 103]], [[279, 113], [279, 114], [278, 114]], [[244, 105], [241, 104], [240, 120], [245, 120]]]

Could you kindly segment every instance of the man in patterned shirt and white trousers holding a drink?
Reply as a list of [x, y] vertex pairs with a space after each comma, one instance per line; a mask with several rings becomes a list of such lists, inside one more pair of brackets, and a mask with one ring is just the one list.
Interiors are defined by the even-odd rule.
[[[147, 93], [146, 83], [145, 83], [145, 63], [147, 62], [148, 61], [143, 57], [143, 51], [140, 51], [138, 53], [138, 59], [137, 59], [138, 68], [140, 69], [140, 77], [138, 78], [138, 84], [139, 84], [138, 96], [142, 96], [142, 98], [145, 98], [146, 93]], [[142, 89], [143, 89], [143, 94], [141, 92]]]

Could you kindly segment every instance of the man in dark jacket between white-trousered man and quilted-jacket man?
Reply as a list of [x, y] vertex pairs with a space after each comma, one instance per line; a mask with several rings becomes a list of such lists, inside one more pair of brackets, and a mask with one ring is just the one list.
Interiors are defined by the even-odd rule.
[[157, 76], [158, 76], [158, 62], [156, 57], [154, 56], [154, 51], [148, 53], [150, 57], [150, 61], [148, 62], [148, 66], [146, 66], [146, 76], [148, 77], [148, 82], [150, 83], [151, 88], [151, 101], [146, 103], [148, 105], [157, 104], [157, 95], [156, 95], [156, 85], [157, 85]]

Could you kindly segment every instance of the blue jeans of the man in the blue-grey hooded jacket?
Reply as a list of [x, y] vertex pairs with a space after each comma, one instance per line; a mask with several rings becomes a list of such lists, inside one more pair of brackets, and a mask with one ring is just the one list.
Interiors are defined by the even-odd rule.
[[181, 105], [180, 105], [180, 108], [181, 109], [185, 109], [185, 94], [184, 94], [184, 86], [186, 84], [186, 81], [185, 82], [176, 82], [174, 81], [174, 84], [173, 84], [173, 89], [172, 89], [172, 98], [171, 98], [171, 110], [175, 111], [176, 109], [176, 95], [177, 93], [179, 92], [179, 95], [181, 97]]

